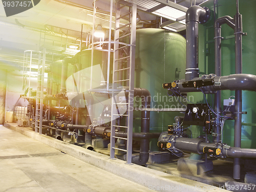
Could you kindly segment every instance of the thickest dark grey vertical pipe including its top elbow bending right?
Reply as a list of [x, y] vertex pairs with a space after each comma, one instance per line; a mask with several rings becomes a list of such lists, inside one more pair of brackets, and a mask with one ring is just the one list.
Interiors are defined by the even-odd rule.
[[198, 25], [207, 22], [209, 11], [191, 6], [186, 12], [186, 73], [185, 79], [199, 77], [198, 69]]

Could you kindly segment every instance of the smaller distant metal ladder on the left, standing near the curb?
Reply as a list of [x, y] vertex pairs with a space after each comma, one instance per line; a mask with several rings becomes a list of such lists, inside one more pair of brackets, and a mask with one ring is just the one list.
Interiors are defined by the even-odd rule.
[[[42, 55], [42, 59], [41, 59]], [[42, 107], [44, 100], [44, 82], [45, 82], [45, 63], [46, 48], [43, 48], [38, 59], [37, 89], [36, 89], [36, 106], [35, 106], [35, 133], [42, 134]]]

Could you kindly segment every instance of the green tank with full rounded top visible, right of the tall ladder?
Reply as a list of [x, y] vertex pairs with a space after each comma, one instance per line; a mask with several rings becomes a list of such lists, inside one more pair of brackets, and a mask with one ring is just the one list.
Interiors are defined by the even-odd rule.
[[[162, 88], [164, 82], [185, 78], [186, 40], [174, 32], [163, 29], [139, 29], [136, 31], [136, 88], [145, 88], [152, 96], [151, 108], [181, 108], [175, 96], [168, 96]], [[184, 98], [179, 97], [182, 103]], [[135, 103], [136, 104], [136, 103]], [[139, 104], [139, 103], [137, 103]], [[137, 105], [138, 106], [138, 105]], [[183, 106], [184, 108], [184, 106]], [[151, 112], [150, 132], [167, 131], [180, 112]], [[140, 117], [135, 111], [134, 117]], [[140, 130], [140, 119], [134, 120], [134, 132]], [[156, 151], [157, 139], [151, 143], [151, 151]]]

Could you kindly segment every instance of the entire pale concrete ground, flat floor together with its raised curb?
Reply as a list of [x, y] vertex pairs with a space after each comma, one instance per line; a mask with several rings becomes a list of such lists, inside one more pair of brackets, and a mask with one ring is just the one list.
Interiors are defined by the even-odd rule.
[[5, 126], [8, 129], [0, 127], [0, 192], [227, 191], [164, 173], [166, 170], [127, 165], [123, 160], [40, 135], [31, 127], [17, 123]]

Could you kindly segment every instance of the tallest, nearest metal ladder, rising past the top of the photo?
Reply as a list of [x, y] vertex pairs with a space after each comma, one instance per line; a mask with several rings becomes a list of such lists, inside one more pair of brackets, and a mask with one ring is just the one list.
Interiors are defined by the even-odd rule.
[[[113, 63], [113, 91], [112, 91], [112, 110], [111, 110], [111, 138], [110, 138], [110, 159], [115, 158], [115, 150], [126, 152], [126, 164], [132, 164], [132, 141], [133, 141], [133, 99], [134, 99], [134, 71], [135, 71], [135, 42], [136, 42], [136, 16], [137, 16], [137, 0], [116, 3], [116, 26], [115, 26], [115, 40], [114, 40], [114, 63]], [[121, 10], [129, 8], [129, 11], [121, 14]], [[123, 9], [125, 8], [125, 9]], [[120, 19], [129, 17], [129, 23], [126, 25], [120, 25]], [[120, 29], [129, 28], [127, 33], [119, 35]], [[121, 40], [127, 40], [129, 42], [121, 42]], [[126, 55], [123, 56], [120, 52], [123, 51]], [[123, 65], [126, 62], [127, 65]], [[126, 72], [126, 75], [124, 75]], [[114, 94], [118, 93], [115, 90], [117, 83], [121, 83], [122, 86], [126, 86], [125, 92], [128, 93], [127, 113], [118, 114], [116, 112], [116, 101]], [[116, 118], [124, 116], [126, 117], [126, 125], [116, 125]], [[119, 127], [127, 130], [127, 138], [116, 137], [116, 129]], [[124, 139], [127, 142], [127, 148], [115, 147], [115, 139]]]

